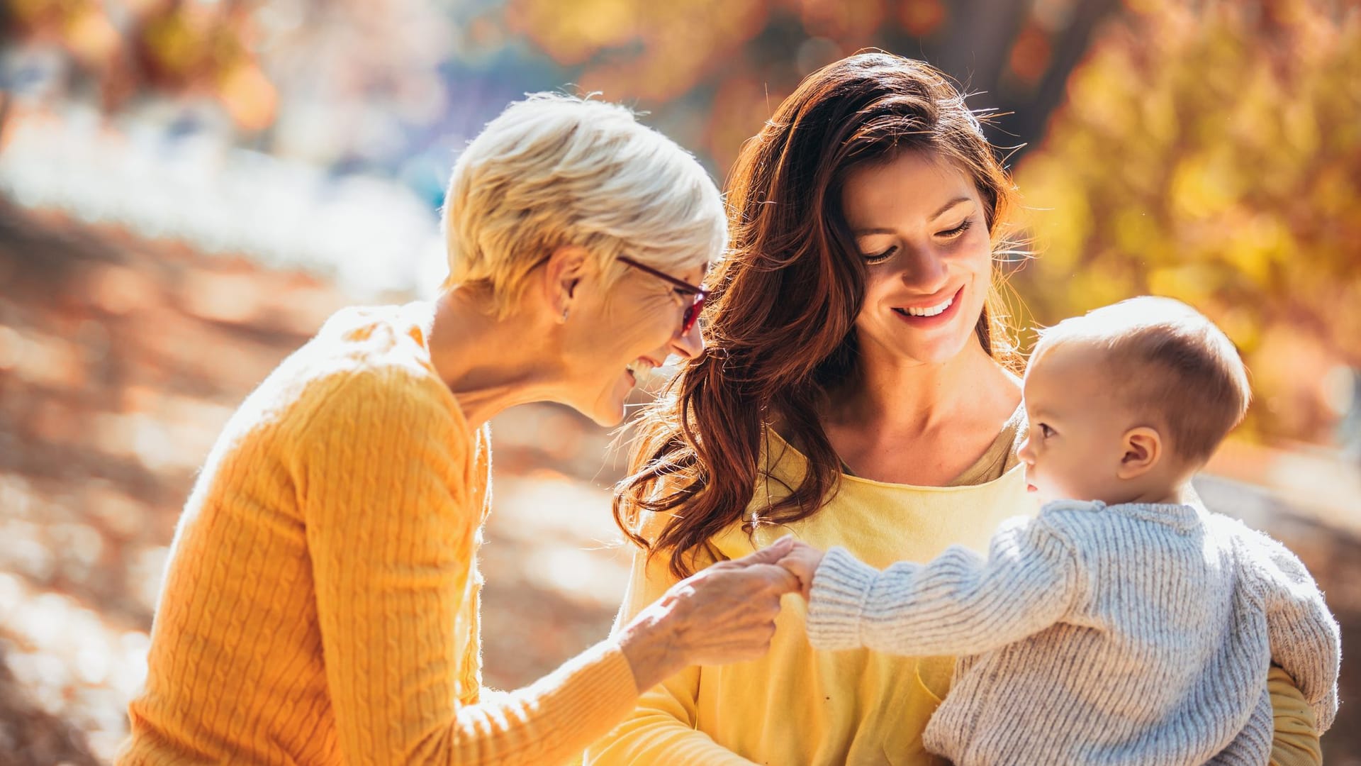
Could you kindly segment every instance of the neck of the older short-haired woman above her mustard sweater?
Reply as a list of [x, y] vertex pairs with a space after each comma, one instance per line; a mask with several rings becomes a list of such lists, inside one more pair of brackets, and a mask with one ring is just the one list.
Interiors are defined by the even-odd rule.
[[523, 313], [498, 318], [490, 296], [456, 288], [434, 300], [430, 363], [472, 428], [525, 402], [553, 399], [550, 327]]

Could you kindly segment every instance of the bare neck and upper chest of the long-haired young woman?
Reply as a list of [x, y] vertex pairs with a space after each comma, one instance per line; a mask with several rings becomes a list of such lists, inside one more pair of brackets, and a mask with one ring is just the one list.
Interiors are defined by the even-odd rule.
[[832, 399], [827, 416], [844, 427], [920, 433], [980, 410], [1010, 413], [1021, 402], [1021, 384], [970, 338], [958, 354], [935, 364], [862, 348], [855, 379]]

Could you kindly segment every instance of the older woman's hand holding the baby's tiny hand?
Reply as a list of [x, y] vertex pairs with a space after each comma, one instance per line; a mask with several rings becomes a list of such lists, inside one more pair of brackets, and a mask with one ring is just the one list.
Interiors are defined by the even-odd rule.
[[619, 634], [638, 691], [689, 665], [755, 660], [770, 647], [780, 597], [799, 579], [776, 564], [792, 548], [784, 537], [749, 556], [719, 562], [683, 579]]

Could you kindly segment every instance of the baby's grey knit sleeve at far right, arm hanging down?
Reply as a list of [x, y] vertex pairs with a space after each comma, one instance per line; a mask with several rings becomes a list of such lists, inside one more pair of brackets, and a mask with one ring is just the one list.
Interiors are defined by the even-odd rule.
[[1271, 661], [1294, 679], [1313, 710], [1319, 732], [1326, 732], [1338, 713], [1342, 657], [1338, 622], [1304, 563], [1266, 534], [1248, 532], [1249, 582], [1259, 589], [1266, 607]]

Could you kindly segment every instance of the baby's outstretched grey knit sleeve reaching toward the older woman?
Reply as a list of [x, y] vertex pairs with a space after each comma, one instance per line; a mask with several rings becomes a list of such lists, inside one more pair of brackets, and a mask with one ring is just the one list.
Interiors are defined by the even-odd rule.
[[876, 571], [832, 548], [811, 590], [815, 649], [977, 654], [1060, 620], [1079, 593], [1079, 571], [1044, 519], [1018, 518], [992, 537], [987, 559], [954, 545], [930, 563]]

